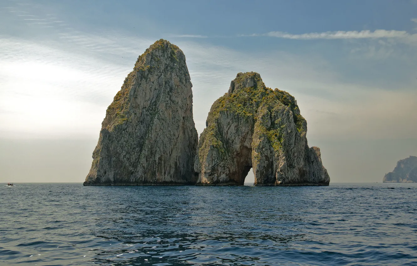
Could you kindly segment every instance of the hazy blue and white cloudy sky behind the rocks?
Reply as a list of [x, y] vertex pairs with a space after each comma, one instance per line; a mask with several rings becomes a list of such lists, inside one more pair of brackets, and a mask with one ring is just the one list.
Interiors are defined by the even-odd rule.
[[3, 0], [0, 182], [83, 182], [107, 106], [161, 38], [186, 55], [198, 134], [255, 71], [296, 98], [331, 183], [417, 156], [416, 0]]

